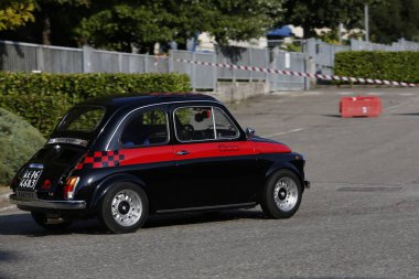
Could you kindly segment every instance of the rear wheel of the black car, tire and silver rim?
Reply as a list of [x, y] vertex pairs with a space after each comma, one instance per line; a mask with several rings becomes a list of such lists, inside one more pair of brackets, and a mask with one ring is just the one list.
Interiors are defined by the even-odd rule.
[[101, 200], [99, 222], [114, 234], [133, 233], [147, 221], [149, 200], [137, 184], [120, 183], [112, 186]]

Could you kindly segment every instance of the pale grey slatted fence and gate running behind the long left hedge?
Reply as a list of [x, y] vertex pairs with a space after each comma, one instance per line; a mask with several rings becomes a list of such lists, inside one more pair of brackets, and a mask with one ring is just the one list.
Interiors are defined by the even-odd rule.
[[[193, 89], [215, 90], [222, 81], [272, 81], [272, 88], [304, 89], [303, 78], [279, 78], [267, 73], [228, 69], [214, 66], [186, 64], [176, 58], [223, 64], [235, 64], [278, 69], [303, 69], [301, 54], [290, 54], [289, 66], [282, 54], [269, 50], [245, 47], [217, 49], [215, 53], [170, 51], [169, 56], [153, 56], [95, 50], [47, 46], [0, 41], [0, 71], [49, 73], [184, 73], [191, 77]], [[291, 67], [292, 65], [292, 67]], [[282, 84], [281, 84], [282, 83]]]

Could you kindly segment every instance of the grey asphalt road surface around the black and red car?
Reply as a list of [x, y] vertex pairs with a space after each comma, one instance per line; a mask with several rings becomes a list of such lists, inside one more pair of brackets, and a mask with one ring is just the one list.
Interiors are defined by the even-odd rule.
[[[342, 96], [372, 93], [380, 117], [339, 117]], [[95, 221], [54, 235], [8, 208], [0, 278], [419, 278], [419, 89], [292, 93], [230, 108], [305, 155], [312, 189], [292, 218], [255, 208], [153, 217], [129, 235]]]

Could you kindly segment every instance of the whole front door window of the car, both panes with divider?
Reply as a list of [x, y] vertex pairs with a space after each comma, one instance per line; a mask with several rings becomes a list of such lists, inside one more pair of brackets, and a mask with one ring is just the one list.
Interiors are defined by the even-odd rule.
[[235, 139], [239, 136], [233, 121], [217, 107], [178, 108], [174, 125], [180, 141]]

